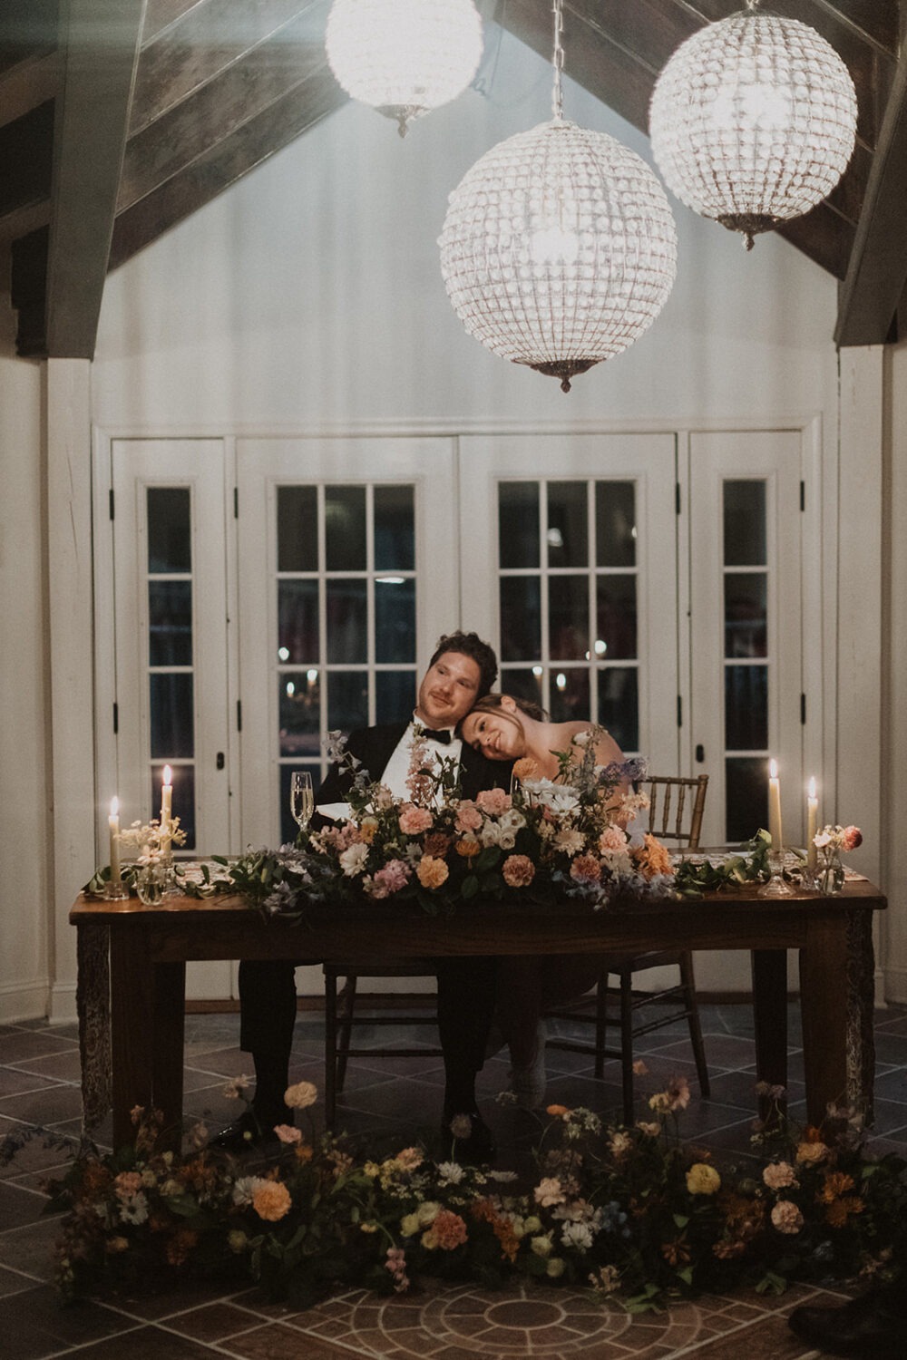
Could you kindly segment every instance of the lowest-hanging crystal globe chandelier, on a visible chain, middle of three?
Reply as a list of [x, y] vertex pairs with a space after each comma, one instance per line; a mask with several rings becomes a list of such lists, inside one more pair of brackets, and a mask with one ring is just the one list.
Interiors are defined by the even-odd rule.
[[498, 143], [449, 199], [447, 296], [494, 354], [570, 379], [655, 320], [677, 267], [658, 180], [634, 151], [562, 113], [562, 0], [553, 3], [553, 120]]

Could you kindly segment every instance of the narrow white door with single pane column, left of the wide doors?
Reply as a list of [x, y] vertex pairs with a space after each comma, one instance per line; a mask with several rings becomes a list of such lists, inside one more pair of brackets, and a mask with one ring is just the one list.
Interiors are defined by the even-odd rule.
[[[186, 832], [177, 853], [193, 858], [231, 842], [224, 473], [220, 439], [110, 446], [110, 783], [122, 826], [147, 823], [159, 815], [169, 764], [173, 813]], [[228, 996], [230, 964], [190, 964], [186, 994]]]

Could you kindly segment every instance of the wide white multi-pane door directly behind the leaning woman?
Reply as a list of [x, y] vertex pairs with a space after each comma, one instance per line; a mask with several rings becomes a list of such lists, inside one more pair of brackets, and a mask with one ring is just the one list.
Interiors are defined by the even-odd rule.
[[502, 690], [676, 772], [674, 435], [460, 443], [464, 619], [495, 642]]

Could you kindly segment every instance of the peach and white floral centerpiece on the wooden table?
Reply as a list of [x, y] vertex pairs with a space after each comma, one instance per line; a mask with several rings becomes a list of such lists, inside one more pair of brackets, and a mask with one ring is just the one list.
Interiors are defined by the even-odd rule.
[[435, 766], [424, 740], [412, 745], [408, 797], [396, 800], [349, 752], [332, 751], [351, 775], [344, 821], [301, 832], [294, 846], [260, 850], [188, 891], [233, 891], [268, 915], [298, 918], [309, 903], [413, 902], [428, 913], [458, 902], [553, 904], [579, 898], [666, 896], [673, 868], [665, 847], [632, 820], [647, 805], [632, 782], [645, 763], [596, 766], [598, 729], [562, 753], [556, 781], [517, 762], [513, 789], [464, 798], [457, 762]]

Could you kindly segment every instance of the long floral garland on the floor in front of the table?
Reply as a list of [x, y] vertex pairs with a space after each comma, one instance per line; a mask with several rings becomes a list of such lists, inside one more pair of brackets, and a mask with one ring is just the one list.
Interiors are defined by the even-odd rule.
[[[296, 1108], [315, 1099], [310, 1083], [287, 1092]], [[456, 1141], [441, 1161], [415, 1146], [362, 1159], [343, 1137], [290, 1126], [275, 1130], [272, 1160], [204, 1145], [178, 1156], [156, 1149], [158, 1118], [136, 1110], [135, 1146], [101, 1156], [86, 1145], [45, 1187], [50, 1210], [65, 1210], [57, 1285], [73, 1299], [256, 1281], [306, 1307], [343, 1285], [533, 1278], [643, 1311], [744, 1285], [891, 1277], [907, 1248], [907, 1163], [873, 1156], [853, 1111], [797, 1130], [775, 1107], [778, 1132], [753, 1136], [761, 1164], [719, 1168], [680, 1141], [688, 1100], [685, 1080], [672, 1080], [651, 1096], [650, 1121], [609, 1127], [549, 1106], [522, 1187], [513, 1172], [466, 1164], [468, 1142]]]

